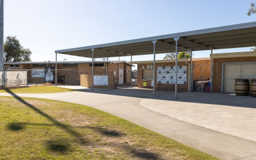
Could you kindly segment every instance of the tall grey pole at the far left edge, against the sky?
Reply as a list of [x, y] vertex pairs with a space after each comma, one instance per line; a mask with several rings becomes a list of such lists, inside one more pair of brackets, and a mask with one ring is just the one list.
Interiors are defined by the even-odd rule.
[[0, 4], [0, 70], [3, 69], [3, 0]]

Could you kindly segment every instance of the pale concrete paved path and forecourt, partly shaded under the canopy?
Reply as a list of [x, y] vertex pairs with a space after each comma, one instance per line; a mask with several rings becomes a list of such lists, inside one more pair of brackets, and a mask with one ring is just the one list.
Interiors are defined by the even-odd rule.
[[[172, 99], [174, 93], [169, 91], [156, 91], [157, 97], [151, 97], [150, 89], [137, 88], [95, 89], [93, 92], [91, 89], [83, 89], [77, 92], [47, 94], [0, 93], [0, 95], [54, 99], [88, 105], [128, 119], [221, 159], [256, 159], [256, 143], [248, 140], [254, 139], [254, 135], [251, 136], [253, 131], [247, 134], [248, 136], [241, 131], [255, 129], [253, 121], [248, 120], [254, 119], [253, 102], [256, 99], [251, 97], [236, 97], [221, 93], [178, 93], [179, 98], [175, 100]], [[209, 109], [211, 111], [207, 111]], [[236, 123], [230, 123], [232, 126], [230, 128], [237, 132], [236, 136], [225, 133], [229, 131], [226, 129], [229, 124], [226, 123], [232, 120], [237, 123], [237, 129]], [[245, 126], [242, 126], [242, 123]]]

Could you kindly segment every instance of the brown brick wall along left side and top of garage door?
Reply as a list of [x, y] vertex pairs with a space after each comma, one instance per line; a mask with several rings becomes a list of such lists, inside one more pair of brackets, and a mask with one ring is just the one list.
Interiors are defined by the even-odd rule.
[[213, 61], [213, 92], [221, 92], [222, 63], [255, 62], [255, 61], [256, 61], [256, 57], [214, 59]]

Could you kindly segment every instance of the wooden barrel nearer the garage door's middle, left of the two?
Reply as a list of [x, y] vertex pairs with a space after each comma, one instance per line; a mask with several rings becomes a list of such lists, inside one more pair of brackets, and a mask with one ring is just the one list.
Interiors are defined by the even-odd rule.
[[249, 79], [235, 79], [235, 95], [249, 95]]

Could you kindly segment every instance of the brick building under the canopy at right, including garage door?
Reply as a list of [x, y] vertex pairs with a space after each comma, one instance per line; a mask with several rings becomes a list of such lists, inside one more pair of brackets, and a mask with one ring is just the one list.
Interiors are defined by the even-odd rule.
[[[213, 92], [235, 93], [235, 79], [249, 79], [250, 83], [251, 79], [256, 79], [256, 52], [217, 53], [211, 54], [211, 58], [213, 59]], [[190, 87], [192, 91], [211, 91], [211, 58], [192, 59], [192, 69], [190, 59], [178, 59], [177, 65], [186, 68], [184, 76], [186, 82], [177, 85], [178, 91], [189, 91]], [[158, 78], [162, 78], [159, 77], [158, 69], [160, 67], [171, 69], [175, 66], [175, 59], [156, 61], [155, 82], [152, 82], [153, 61], [132, 63], [138, 64], [138, 87], [152, 88], [155, 83], [156, 90], [175, 90], [174, 83], [158, 81]]]

